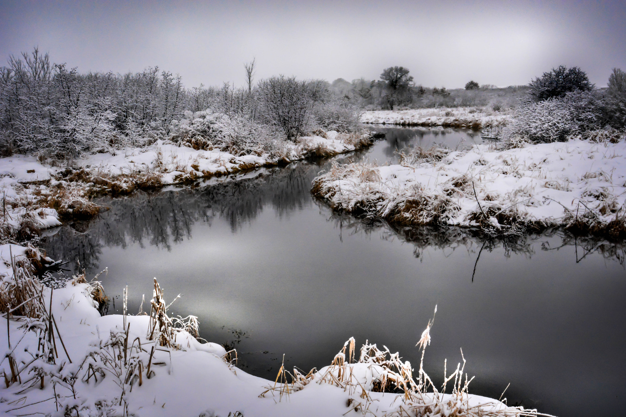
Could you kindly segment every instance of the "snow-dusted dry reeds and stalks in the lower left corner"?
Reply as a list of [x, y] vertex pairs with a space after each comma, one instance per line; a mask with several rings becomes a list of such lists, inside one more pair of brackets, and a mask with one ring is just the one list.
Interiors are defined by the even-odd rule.
[[[125, 290], [122, 329], [116, 328], [109, 331], [108, 335], [101, 335], [100, 329], [96, 326], [98, 338], [103, 338], [99, 343], [91, 345], [93, 348], [84, 358], [74, 358], [79, 359], [78, 363], [70, 367], [71, 371], [68, 372], [64, 368], [68, 368], [66, 364], [73, 363], [73, 360], [69, 357], [63, 338], [59, 334], [54, 315], [49, 313], [54, 290], [44, 288], [33, 275], [33, 270], [38, 268], [36, 261], [41, 259], [45, 261], [45, 258], [38, 253], [37, 249], [31, 247], [27, 249], [26, 256], [12, 257], [12, 259], [12, 274], [2, 277], [0, 281], [0, 310], [8, 322], [11, 319], [20, 325], [17, 328], [18, 331], [15, 331], [16, 328], [13, 326], [13, 331], [9, 332], [9, 349], [12, 350], [6, 354], [3, 361], [7, 361], [10, 370], [9, 373], [4, 373], [4, 381], [7, 388], [16, 384], [17, 388], [14, 391], [26, 393], [20, 401], [28, 402], [28, 391], [31, 389], [53, 386], [55, 406], [61, 413], [59, 415], [69, 416], [74, 415], [74, 412], [83, 415], [82, 410], [85, 407], [80, 403], [77, 405], [75, 400], [78, 398], [76, 382], [90, 383], [93, 379], [94, 383], [98, 384], [103, 378], [111, 378], [120, 389], [119, 394], [111, 393], [112, 395], [106, 400], [97, 401], [95, 409], [101, 409], [106, 415], [120, 415], [116, 414], [116, 410], [119, 411], [118, 407], [122, 407], [125, 410], [123, 415], [130, 415], [127, 413], [127, 394], [133, 390], [134, 386], [141, 386], [145, 379], [156, 375], [155, 365], [164, 364], [163, 359], [159, 359], [158, 363], [155, 361], [155, 350], [168, 351], [167, 348], [181, 348], [175, 343], [175, 333], [183, 329], [197, 334], [198, 322], [195, 317], [168, 318], [165, 314], [167, 306], [163, 303], [163, 292], [155, 281], [156, 294], [153, 299], [153, 308], [158, 311], [151, 315], [153, 322], [151, 324], [154, 325], [158, 321], [164, 324], [160, 328], [153, 327], [152, 334], [155, 336], [155, 341], [145, 343], [143, 339], [142, 344], [141, 338], [133, 339], [131, 336], [126, 308], [127, 291]], [[100, 281], [97, 280], [99, 275], [88, 282], [83, 271], [73, 276], [71, 284], [74, 286], [87, 284], [86, 294], [93, 301], [105, 304], [108, 298]], [[68, 306], [72, 300], [73, 298], [67, 301]], [[29, 363], [18, 361], [16, 349], [24, 349], [20, 342], [30, 332], [35, 333], [35, 341], [39, 340], [36, 352], [32, 349], [34, 346], [26, 346], [26, 351], [33, 355], [33, 359]], [[152, 344], [151, 348], [146, 344], [148, 346]], [[155, 349], [155, 346], [162, 346], [162, 348]], [[59, 392], [63, 394], [57, 395]], [[19, 408], [23, 407], [19, 406]], [[86, 404], [86, 409], [90, 409], [89, 404]]]

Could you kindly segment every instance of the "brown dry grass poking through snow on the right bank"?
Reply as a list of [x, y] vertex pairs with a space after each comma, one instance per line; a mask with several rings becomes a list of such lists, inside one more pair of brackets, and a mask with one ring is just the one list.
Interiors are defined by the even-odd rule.
[[[395, 175], [381, 179], [382, 168], [371, 164], [334, 164], [327, 173], [313, 180], [311, 192], [340, 213], [387, 221], [395, 226], [460, 224], [491, 237], [536, 233], [558, 226], [578, 235], [592, 234], [612, 241], [626, 238], [626, 210], [620, 203], [620, 195], [613, 194], [613, 171], [607, 173], [600, 169], [582, 176], [581, 181], [600, 181], [600, 184], [575, 198], [574, 203], [580, 201], [578, 209], [572, 211], [564, 207], [560, 218], [535, 219], [528, 215], [526, 207], [546, 204], [545, 201], [537, 201], [540, 194], [535, 188], [573, 191], [575, 184], [567, 178], [548, 180], [541, 164], [526, 166], [515, 157], [506, 155], [491, 163], [483, 158], [474, 161], [471, 166], [475, 172], [473, 175], [468, 170], [451, 176], [456, 171], [446, 171], [444, 158], [448, 152], [447, 149], [417, 148], [408, 154], [401, 153], [401, 166], [405, 168], [430, 169], [428, 164], [435, 164], [433, 170], [436, 175], [428, 179], [429, 184], [405, 179], [396, 183]], [[438, 173], [442, 170], [446, 175], [440, 177]], [[533, 179], [540, 180], [541, 185], [520, 186], [498, 193], [490, 190], [488, 183], [481, 180], [481, 173], [486, 175], [485, 172], [516, 179], [528, 176], [528, 171], [531, 171]], [[475, 209], [468, 209], [468, 199], [475, 201]]]

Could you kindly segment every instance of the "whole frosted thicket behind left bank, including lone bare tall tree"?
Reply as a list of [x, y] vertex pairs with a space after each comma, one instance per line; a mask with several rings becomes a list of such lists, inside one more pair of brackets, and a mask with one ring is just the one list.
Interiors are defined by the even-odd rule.
[[[254, 66], [246, 64], [246, 88], [188, 89], [180, 76], [156, 66], [81, 74], [34, 48], [0, 68], [0, 153], [71, 159], [199, 131], [201, 146], [262, 153], [316, 128], [357, 128], [356, 109], [326, 81], [276, 76], [254, 84]], [[252, 148], [239, 146], [250, 141]]]

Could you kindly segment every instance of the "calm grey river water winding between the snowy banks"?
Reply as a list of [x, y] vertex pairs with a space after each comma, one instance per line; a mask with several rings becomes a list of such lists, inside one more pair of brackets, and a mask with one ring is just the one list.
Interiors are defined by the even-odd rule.
[[[394, 161], [396, 148], [480, 140], [450, 129], [379, 130], [386, 140], [339, 161]], [[237, 348], [252, 374], [275, 378], [283, 353], [288, 367], [321, 368], [350, 336], [417, 367], [415, 344], [438, 304], [431, 376], [441, 380], [444, 358], [454, 368], [462, 348], [476, 375], [470, 392], [498, 398], [511, 383], [509, 404], [619, 414], [623, 246], [560, 233], [485, 243], [456, 228], [364, 224], [310, 196], [323, 168], [292, 164], [227, 184], [106, 199], [110, 211], [59, 228], [45, 246], [92, 275], [108, 267], [105, 288], [119, 296], [128, 285], [130, 311], [158, 278], [167, 299], [182, 294], [173, 313], [197, 315], [201, 336]]]

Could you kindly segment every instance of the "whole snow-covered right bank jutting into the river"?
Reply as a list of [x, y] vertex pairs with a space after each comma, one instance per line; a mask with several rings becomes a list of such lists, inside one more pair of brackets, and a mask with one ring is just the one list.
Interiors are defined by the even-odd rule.
[[[334, 166], [314, 180], [333, 208], [398, 224], [577, 228], [620, 238], [626, 219], [626, 141], [526, 144], [503, 151], [431, 149], [402, 164]], [[506, 226], [505, 226], [506, 225]], [[514, 228], [515, 229], [515, 228]]]

